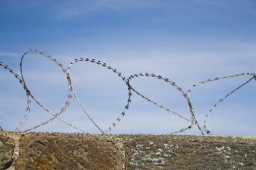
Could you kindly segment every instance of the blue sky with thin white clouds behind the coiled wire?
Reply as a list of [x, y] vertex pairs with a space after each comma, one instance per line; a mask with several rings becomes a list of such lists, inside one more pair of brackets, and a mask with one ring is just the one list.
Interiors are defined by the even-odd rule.
[[[66, 68], [75, 58], [96, 58], [125, 77], [156, 73], [185, 91], [205, 79], [255, 73], [255, 1], [0, 0], [0, 23], [0, 60], [19, 75], [21, 55], [30, 48], [50, 54]], [[0, 125], [13, 130], [26, 110], [26, 94], [7, 71], [0, 71]], [[24, 73], [34, 96], [58, 112], [68, 88], [61, 70], [50, 60], [29, 54], [24, 58]], [[125, 107], [125, 83], [107, 69], [86, 62], [73, 65], [71, 78], [88, 113], [106, 129]], [[195, 87], [191, 102], [199, 122], [218, 99], [249, 78]], [[173, 87], [150, 77], [131, 83], [146, 96], [189, 117], [185, 99]], [[212, 133], [256, 135], [255, 96], [255, 81], [251, 81], [221, 103], [208, 120]], [[50, 117], [32, 102], [23, 130]], [[98, 133], [74, 99], [61, 118]], [[133, 93], [127, 114], [111, 132], [165, 134], [186, 125]], [[79, 132], [59, 120], [36, 131]], [[200, 133], [192, 128], [185, 134]]]

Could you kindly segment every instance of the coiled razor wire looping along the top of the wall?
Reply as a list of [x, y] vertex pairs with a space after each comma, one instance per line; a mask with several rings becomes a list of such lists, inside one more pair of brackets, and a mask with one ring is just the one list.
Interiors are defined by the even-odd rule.
[[[58, 112], [57, 114], [53, 114], [50, 110], [48, 110], [47, 108], [44, 107], [44, 105], [42, 105], [42, 103], [40, 103], [38, 101], [38, 99], [36, 99], [36, 97], [34, 97], [34, 95], [32, 95], [32, 93], [30, 92], [29, 88], [26, 85], [26, 81], [24, 79], [24, 74], [22, 71], [22, 63], [23, 63], [23, 59], [27, 54], [30, 53], [36, 53], [36, 54], [40, 54], [46, 58], [49, 58], [50, 60], [52, 60], [53, 62], [55, 62], [55, 64], [57, 64], [58, 67], [60, 67], [60, 69], [63, 71], [63, 73], [65, 74], [65, 77], [67, 78], [67, 87], [68, 87], [68, 95], [67, 95], [67, 101], [65, 102], [65, 105], [63, 106], [63, 108], [61, 108], [60, 112]], [[82, 102], [80, 101], [77, 93], [75, 92], [75, 89], [73, 88], [73, 85], [71, 83], [71, 76], [70, 76], [70, 69], [71, 66], [73, 64], [75, 64], [75, 62], [92, 62], [95, 63], [97, 65], [100, 65], [102, 67], [105, 67], [106, 69], [108, 69], [109, 71], [112, 71], [113, 73], [115, 73], [116, 75], [118, 75], [119, 77], [121, 77], [121, 79], [124, 81], [125, 85], [127, 85], [127, 89], [128, 89], [128, 99], [127, 99], [127, 103], [125, 105], [125, 108], [123, 110], [123, 112], [121, 112], [121, 114], [119, 115], [119, 117], [117, 118], [117, 120], [115, 120], [115, 122], [113, 122], [113, 124], [111, 124], [106, 130], [102, 130], [100, 128], [100, 126], [98, 126], [98, 124], [96, 124], [96, 122], [91, 118], [90, 114], [88, 114], [88, 112], [86, 112], [86, 109], [84, 107], [84, 105], [82, 104]], [[178, 116], [179, 118], [182, 118], [183, 120], [185, 120], [186, 122], [189, 122], [189, 126], [185, 127], [185, 128], [181, 128], [180, 130], [177, 131], [173, 131], [170, 132], [170, 134], [177, 134], [180, 132], [185, 132], [185, 130], [189, 130], [191, 129], [194, 125], [197, 126], [197, 128], [200, 130], [201, 134], [211, 134], [210, 130], [208, 130], [206, 128], [206, 119], [209, 117], [210, 113], [212, 112], [212, 110], [214, 110], [214, 108], [216, 108], [216, 106], [221, 103], [222, 101], [224, 101], [224, 99], [226, 99], [229, 95], [231, 95], [232, 93], [234, 93], [235, 91], [237, 91], [238, 89], [241, 89], [241, 87], [243, 87], [244, 85], [246, 85], [247, 83], [249, 83], [250, 81], [252, 81], [253, 79], [256, 80], [256, 74], [255, 73], [242, 73], [242, 74], [238, 74], [238, 75], [229, 75], [229, 76], [224, 76], [224, 77], [216, 77], [214, 79], [207, 79], [206, 81], [201, 81], [199, 83], [195, 83], [193, 86], [190, 87], [190, 89], [187, 91], [187, 93], [185, 93], [185, 91], [183, 91], [183, 89], [181, 87], [179, 87], [174, 81], [170, 81], [170, 79], [168, 78], [164, 78], [161, 75], [156, 75], [154, 73], [139, 73], [139, 74], [135, 74], [135, 75], [130, 75], [127, 79], [121, 74], [121, 72], [117, 71], [117, 69], [114, 69], [113, 67], [111, 67], [110, 65], [107, 65], [105, 62], [101, 62], [100, 60], [95, 60], [95, 59], [90, 59], [90, 58], [77, 58], [75, 60], [73, 60], [73, 62], [70, 63], [69, 67], [67, 69], [65, 69], [63, 67], [63, 65], [58, 62], [55, 58], [53, 58], [50, 55], [46, 55], [43, 52], [39, 52], [38, 50], [29, 50], [28, 52], [25, 52], [22, 55], [22, 58], [20, 60], [20, 73], [21, 73], [21, 78], [19, 77], [18, 74], [16, 74], [12, 69], [10, 69], [7, 65], [3, 64], [3, 62], [0, 61], [0, 67], [3, 67], [4, 69], [6, 69], [7, 71], [9, 71], [12, 75], [14, 75], [14, 77], [16, 79], [18, 79], [18, 81], [20, 82], [20, 84], [23, 86], [24, 90], [26, 91], [26, 95], [27, 95], [27, 109], [26, 109], [26, 113], [24, 114], [24, 117], [22, 118], [22, 121], [20, 122], [20, 124], [18, 125], [17, 128], [15, 128], [15, 131], [20, 131], [20, 128], [22, 128], [22, 126], [24, 126], [26, 120], [28, 120], [28, 113], [30, 112], [30, 104], [31, 104], [31, 100], [30, 97], [32, 97], [32, 99], [38, 104], [40, 105], [40, 107], [45, 110], [48, 114], [50, 114], [52, 117], [45, 120], [44, 122], [41, 122], [40, 124], [37, 124], [35, 126], [32, 126], [31, 128], [28, 128], [26, 130], [24, 130], [24, 132], [28, 132], [30, 130], [34, 130], [40, 126], [44, 126], [45, 124], [50, 123], [51, 121], [55, 120], [55, 118], [61, 120], [61, 122], [64, 122], [65, 124], [80, 130], [82, 132], [86, 132], [88, 133], [86, 130], [83, 130], [82, 128], [79, 128], [65, 120], [63, 120], [63, 118], [60, 118], [61, 114], [63, 114], [66, 110], [67, 107], [70, 105], [70, 101], [72, 98], [72, 95], [75, 97], [77, 103], [79, 104], [79, 106], [82, 108], [84, 114], [86, 114], [86, 116], [88, 116], [89, 120], [94, 124], [94, 126], [96, 126], [96, 128], [98, 128], [98, 130], [100, 130], [100, 132], [102, 134], [106, 134], [108, 132], [110, 132], [110, 130], [112, 130], [120, 121], [121, 119], [125, 116], [127, 110], [129, 109], [129, 104], [131, 103], [131, 95], [132, 95], [132, 91], [134, 93], [136, 93], [137, 95], [139, 95], [140, 97], [142, 97], [143, 99], [146, 99], [146, 101], [153, 103], [154, 105], [157, 105], [159, 108], [162, 108], [164, 110], [166, 110], [166, 112], [170, 112], [171, 114], [174, 114], [175, 116]], [[220, 100], [218, 100], [218, 102], [216, 102], [214, 104], [214, 106], [210, 109], [209, 112], [207, 112], [205, 119], [203, 120], [203, 127], [199, 124], [199, 122], [197, 122], [197, 119], [195, 118], [195, 113], [193, 110], [193, 105], [191, 103], [191, 96], [190, 93], [192, 91], [192, 89], [194, 87], [196, 87], [197, 85], [201, 85], [203, 83], [208, 83], [208, 82], [212, 82], [212, 81], [218, 81], [221, 79], [228, 79], [231, 77], [238, 77], [238, 76], [242, 76], [242, 75], [251, 75], [253, 77], [251, 77], [248, 81], [246, 81], [245, 83], [243, 83], [242, 85], [239, 85], [238, 87], [236, 87], [236, 89], [232, 90], [230, 93], [228, 93], [227, 95], [225, 95], [224, 97], [222, 97]], [[187, 100], [187, 104], [189, 105], [189, 113], [191, 115], [190, 118], [185, 117], [183, 114], [179, 114], [173, 110], [170, 110], [169, 108], [166, 108], [163, 105], [160, 105], [159, 103], [156, 103], [155, 101], [153, 101], [152, 99], [146, 97], [145, 95], [142, 95], [141, 93], [139, 93], [139, 91], [136, 91], [131, 85], [130, 85], [130, 81], [131, 79], [134, 79], [135, 77], [153, 77], [159, 80], [162, 80], [166, 83], [168, 83], [169, 85], [171, 85], [172, 87], [176, 88], [178, 91], [181, 92], [181, 94], [183, 95], [183, 97], [185, 97], [185, 99]], [[3, 128], [0, 126], [0, 130], [3, 130]]]

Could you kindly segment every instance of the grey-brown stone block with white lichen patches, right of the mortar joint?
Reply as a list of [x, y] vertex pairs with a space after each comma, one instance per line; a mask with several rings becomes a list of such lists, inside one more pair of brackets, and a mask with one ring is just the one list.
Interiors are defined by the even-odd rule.
[[255, 140], [139, 136], [126, 144], [126, 169], [256, 169]]

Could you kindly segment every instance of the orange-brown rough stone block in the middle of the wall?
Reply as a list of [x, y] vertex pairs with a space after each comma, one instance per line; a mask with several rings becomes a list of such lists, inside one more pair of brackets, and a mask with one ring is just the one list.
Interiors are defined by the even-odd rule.
[[96, 138], [29, 135], [20, 142], [15, 169], [122, 169], [111, 143]]

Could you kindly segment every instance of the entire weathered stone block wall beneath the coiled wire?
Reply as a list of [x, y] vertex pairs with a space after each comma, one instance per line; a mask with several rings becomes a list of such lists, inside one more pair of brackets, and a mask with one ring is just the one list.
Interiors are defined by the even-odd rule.
[[1, 169], [256, 169], [256, 137], [0, 132]]

